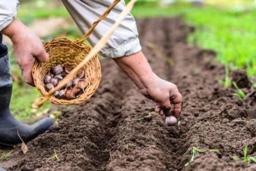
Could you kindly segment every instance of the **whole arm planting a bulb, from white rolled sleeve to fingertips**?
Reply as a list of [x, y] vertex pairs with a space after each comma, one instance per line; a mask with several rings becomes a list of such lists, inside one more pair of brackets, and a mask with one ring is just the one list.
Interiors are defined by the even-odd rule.
[[[62, 2], [82, 33], [85, 33], [113, 3], [113, 0], [62, 0]], [[93, 46], [111, 29], [124, 7], [124, 1], [120, 1], [108, 17], [94, 29], [88, 38]], [[104, 57], [113, 58], [117, 65], [135, 82], [140, 92], [156, 102], [157, 112], [163, 114], [164, 111], [168, 113], [168, 110], [172, 109], [171, 114], [174, 114], [175, 117], [180, 116], [182, 95], [176, 85], [164, 81], [153, 73], [141, 51], [136, 22], [132, 14], [124, 19], [100, 53]]]

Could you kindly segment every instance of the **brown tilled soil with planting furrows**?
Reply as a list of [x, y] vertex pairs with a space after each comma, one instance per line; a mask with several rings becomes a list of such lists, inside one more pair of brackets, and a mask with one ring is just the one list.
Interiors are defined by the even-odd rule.
[[[219, 85], [225, 74], [214, 62], [215, 53], [187, 45], [191, 29], [182, 19], [139, 19], [137, 25], [153, 70], [176, 83], [183, 94], [180, 125], [167, 127], [158, 115], [151, 121], [140, 120], [155, 105], [141, 96], [111, 59], [105, 59], [97, 93], [84, 104], [62, 109], [58, 126], [29, 142], [26, 154], [16, 148], [0, 166], [9, 170], [256, 170], [256, 164], [242, 161], [246, 144], [249, 156], [256, 156], [256, 93], [247, 88], [246, 75], [233, 75], [248, 94], [239, 100], [232, 94], [234, 89]], [[185, 167], [193, 147], [206, 152]]]

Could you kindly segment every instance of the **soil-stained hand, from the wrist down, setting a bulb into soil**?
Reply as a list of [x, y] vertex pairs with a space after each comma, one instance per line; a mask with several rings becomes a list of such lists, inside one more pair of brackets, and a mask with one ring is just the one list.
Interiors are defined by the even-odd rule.
[[140, 92], [156, 102], [156, 112], [166, 116], [174, 115], [179, 118], [182, 112], [182, 94], [174, 83], [165, 81], [153, 74], [153, 77], [144, 82]]

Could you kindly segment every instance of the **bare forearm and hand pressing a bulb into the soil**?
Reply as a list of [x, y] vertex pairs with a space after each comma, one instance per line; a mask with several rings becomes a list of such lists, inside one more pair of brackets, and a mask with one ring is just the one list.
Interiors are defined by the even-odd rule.
[[157, 103], [156, 112], [164, 114], [164, 109], [168, 109], [176, 118], [180, 116], [182, 95], [177, 86], [153, 73], [142, 51], [127, 57], [114, 58], [114, 61], [132, 79], [141, 94]]

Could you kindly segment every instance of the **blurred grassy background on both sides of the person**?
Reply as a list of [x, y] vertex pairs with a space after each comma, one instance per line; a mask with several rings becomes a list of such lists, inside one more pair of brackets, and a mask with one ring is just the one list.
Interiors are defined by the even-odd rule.
[[[198, 2], [162, 0], [139, 1], [132, 13], [136, 18], [181, 16], [188, 25], [196, 28], [188, 43], [204, 49], [215, 50], [216, 60], [230, 69], [245, 68], [251, 77], [256, 75], [256, 9], [253, 0], [202, 0]], [[128, 2], [128, 1], [127, 1]], [[60, 0], [22, 1], [18, 11], [21, 19], [42, 39], [54, 37], [80, 38], [80, 30], [70, 18]], [[11, 69], [14, 90], [11, 110], [19, 120], [48, 112], [50, 104], [40, 110], [30, 108], [39, 97], [37, 89], [23, 82], [21, 71], [15, 63], [11, 42]]]

